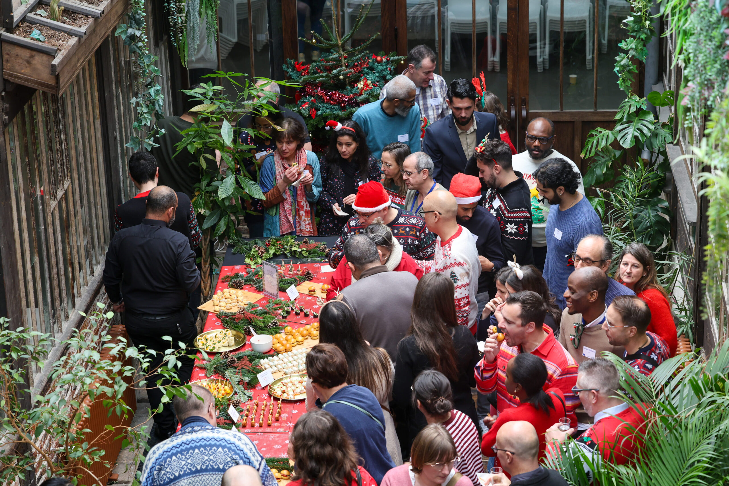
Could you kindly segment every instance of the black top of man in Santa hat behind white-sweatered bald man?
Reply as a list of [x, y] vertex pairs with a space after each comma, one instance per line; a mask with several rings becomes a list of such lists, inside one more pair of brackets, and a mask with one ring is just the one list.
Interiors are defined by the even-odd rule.
[[491, 272], [481, 272], [478, 277], [478, 293], [488, 291], [488, 297], [493, 298], [496, 295], [496, 290], [490, 287], [494, 286], [494, 275], [506, 264], [501, 245], [499, 222], [496, 220], [496, 216], [479, 205], [473, 208], [471, 219], [459, 218], [458, 222], [462, 227], [469, 230], [472, 235], [478, 237], [476, 240], [478, 254], [494, 264]]

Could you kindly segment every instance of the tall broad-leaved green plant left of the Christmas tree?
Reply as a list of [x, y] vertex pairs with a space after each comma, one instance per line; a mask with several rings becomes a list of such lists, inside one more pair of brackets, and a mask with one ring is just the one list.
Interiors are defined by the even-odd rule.
[[[195, 154], [195, 163], [202, 169], [200, 184], [195, 185], [192, 206], [195, 212], [205, 216], [203, 240], [200, 242], [203, 251], [200, 284], [203, 297], [210, 295], [211, 291], [211, 240], [220, 236], [230, 240], [240, 235], [237, 227], [243, 213], [252, 212], [246, 210], [241, 200], [264, 199], [261, 188], [243, 168], [243, 159], [252, 157], [250, 149], [254, 147], [241, 144], [239, 138], [243, 130], [254, 136], [268, 135], [252, 128], [233, 127], [231, 121], [235, 121], [243, 111], [254, 117], [267, 116], [274, 111], [270, 102], [276, 95], [262, 89], [268, 84], [257, 87], [251, 80], [239, 83], [236, 79], [241, 76], [243, 74], [216, 71], [206, 77], [224, 79], [229, 89], [224, 90], [222, 86], [208, 82], [200, 88], [182, 91], [200, 103], [190, 110], [195, 114], [195, 122], [191, 128], [182, 130], [184, 138], [176, 149], [178, 153], [187, 150]], [[265, 78], [257, 79], [273, 82]], [[222, 160], [220, 167], [216, 153], [220, 154]]]

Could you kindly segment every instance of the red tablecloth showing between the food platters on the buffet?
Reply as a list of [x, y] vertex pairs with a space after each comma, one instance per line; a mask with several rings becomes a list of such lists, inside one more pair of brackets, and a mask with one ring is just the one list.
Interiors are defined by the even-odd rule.
[[[332, 276], [332, 272], [329, 273], [319, 273], [319, 267], [321, 267], [321, 264], [319, 263], [303, 263], [303, 264], [294, 264], [293, 265], [295, 270], [305, 270], [309, 269], [311, 270], [311, 273], [314, 274], [314, 282], [317, 283], [329, 283], [330, 278]], [[243, 270], [246, 269], [245, 265], [235, 265], [230, 267], [221, 267], [220, 269], [220, 277], [224, 277], [225, 275], [230, 275], [231, 273], [236, 272], [243, 272]], [[215, 288], [215, 291], [219, 291], [222, 289], [227, 289], [227, 283], [223, 282], [220, 278], [218, 279], [217, 287]], [[257, 294], [261, 294], [261, 292], [256, 291], [252, 286], [245, 286], [243, 288], [244, 290], [251, 291]], [[289, 297], [286, 295], [286, 292], [279, 292], [279, 296], [281, 299], [288, 300]], [[256, 302], [257, 305], [266, 305], [270, 299], [268, 297], [263, 297], [262, 299], [258, 300]], [[305, 317], [303, 313], [301, 315], [295, 315], [295, 314], [289, 314], [289, 320], [288, 325], [292, 326], [292, 328], [299, 328], [303, 327], [307, 324], [312, 324], [314, 321], [318, 321], [319, 318], [313, 317], [313, 312], [319, 313], [319, 304], [316, 302], [316, 297], [311, 297], [310, 295], [301, 294], [300, 297], [296, 300], [297, 304], [304, 307], [305, 309], [309, 309], [312, 312], [310, 313], [309, 317]], [[205, 331], [211, 331], [212, 329], [223, 329], [222, 324], [220, 323], [220, 320], [217, 318], [217, 316], [214, 313], [208, 313], [208, 318], [205, 323]], [[249, 337], [250, 340], [250, 337]], [[241, 350], [249, 350], [251, 349], [250, 342], [246, 342], [246, 345], [243, 346], [243, 348], [239, 348], [236, 351]], [[208, 353], [208, 355], [211, 355], [212, 353]], [[273, 354], [276, 354], [275, 352], [270, 351], [270, 355], [273, 356]], [[202, 355], [198, 353], [198, 358], [195, 360], [195, 364], [198, 364], [202, 361]], [[192, 380], [204, 380], [207, 378], [205, 373], [205, 369], [195, 367], [192, 371]], [[217, 377], [217, 375], [214, 375], [213, 377]], [[268, 394], [268, 387], [261, 388], [260, 385], [256, 385], [256, 387], [252, 390], [253, 392], [253, 399], [252, 402], [255, 400], [259, 401], [258, 404], [258, 410], [256, 417], [260, 419], [260, 409], [261, 409], [261, 402], [263, 400], [266, 400], [268, 403], [270, 403], [271, 396]], [[278, 402], [278, 400], [276, 400]], [[274, 412], [276, 411], [276, 405], [274, 405], [273, 408]], [[266, 415], [263, 421], [262, 427], [254, 427], [252, 426], [251, 421], [248, 423], [248, 427], [243, 427], [243, 417], [239, 420], [239, 423], [236, 425], [238, 427], [238, 430], [242, 431], [244, 434], [248, 435], [254, 444], [256, 444], [256, 447], [258, 447], [258, 450], [260, 450], [261, 454], [265, 457], [285, 457], [286, 456], [286, 447], [288, 447], [289, 443], [289, 434], [291, 434], [292, 427], [294, 426], [294, 423], [296, 422], [297, 418], [301, 416], [305, 412], [304, 408], [304, 400], [298, 400], [298, 401], [286, 401], [284, 400], [282, 402], [282, 409], [281, 409], [281, 418], [278, 421], [273, 421], [272, 425], [268, 426], [268, 405], [266, 408]]]

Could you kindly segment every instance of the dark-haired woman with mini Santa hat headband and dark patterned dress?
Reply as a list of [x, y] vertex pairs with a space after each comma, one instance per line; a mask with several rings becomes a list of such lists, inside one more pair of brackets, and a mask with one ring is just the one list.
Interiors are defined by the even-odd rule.
[[370, 155], [367, 139], [357, 122], [332, 120], [325, 128], [333, 128], [334, 133], [327, 152], [321, 157], [324, 187], [319, 197], [319, 235], [340, 236], [344, 225], [354, 216], [351, 205], [357, 189], [368, 181], [379, 181], [380, 167]]

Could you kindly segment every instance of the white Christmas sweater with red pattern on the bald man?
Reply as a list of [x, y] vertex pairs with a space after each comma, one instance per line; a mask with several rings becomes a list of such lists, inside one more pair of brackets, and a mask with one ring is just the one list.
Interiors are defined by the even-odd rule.
[[459, 224], [456, 234], [441, 241], [435, 239], [435, 254], [431, 262], [418, 262], [425, 273], [437, 272], [448, 275], [456, 286], [456, 314], [459, 324], [469, 326], [475, 334], [478, 305], [478, 277], [481, 263], [478, 260], [476, 242], [469, 230]]

